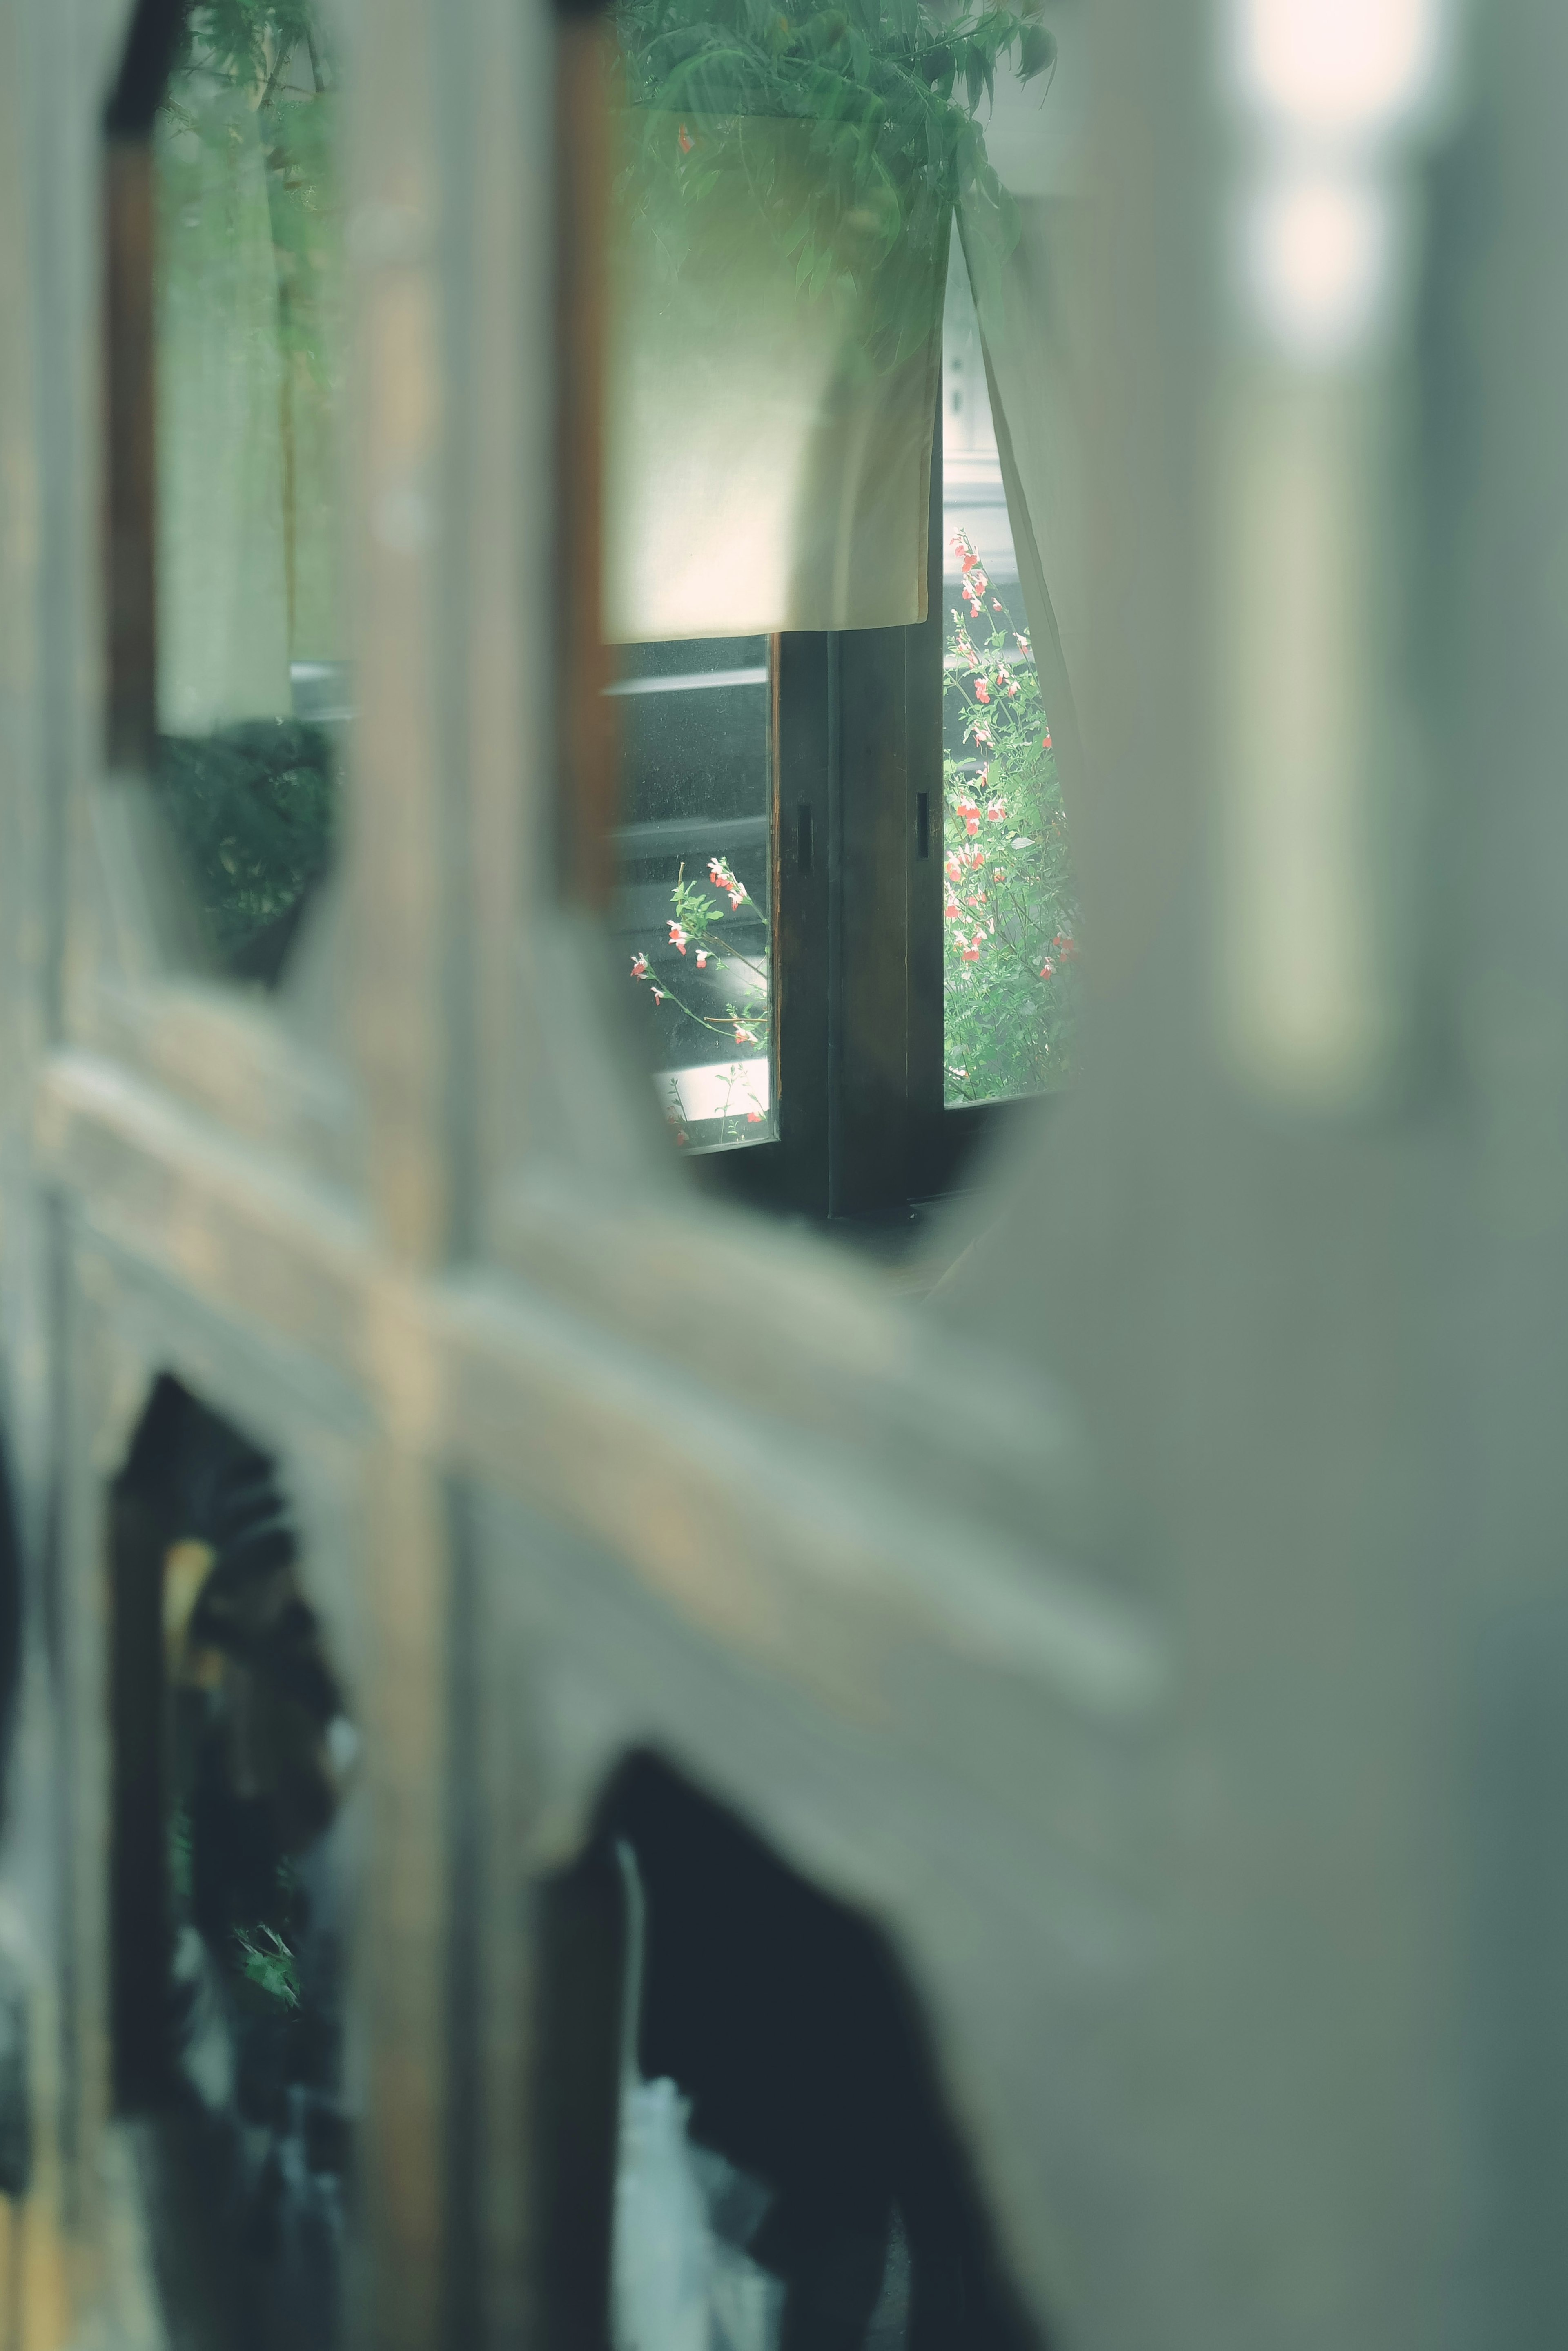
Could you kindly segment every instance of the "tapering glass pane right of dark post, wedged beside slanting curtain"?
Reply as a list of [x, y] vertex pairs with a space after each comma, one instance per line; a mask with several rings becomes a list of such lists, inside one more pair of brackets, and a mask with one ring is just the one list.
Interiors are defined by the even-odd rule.
[[969, 275], [943, 324], [943, 1027], [947, 1103], [1072, 1077], [1077, 889]]

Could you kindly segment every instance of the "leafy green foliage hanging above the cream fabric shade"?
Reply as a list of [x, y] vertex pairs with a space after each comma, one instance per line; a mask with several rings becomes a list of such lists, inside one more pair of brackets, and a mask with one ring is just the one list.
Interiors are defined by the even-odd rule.
[[[1039, 0], [940, 19], [926, 0], [618, 0], [616, 33], [642, 134], [618, 197], [679, 268], [701, 216], [722, 233], [738, 190], [795, 284], [872, 294], [870, 362], [893, 367], [931, 324], [929, 280], [957, 202], [976, 249], [1009, 252], [1018, 214], [976, 120], [997, 68], [1056, 61]], [[804, 127], [804, 174], [748, 125]], [[889, 277], [891, 266], [891, 277]], [[912, 282], [910, 282], [912, 280]]]

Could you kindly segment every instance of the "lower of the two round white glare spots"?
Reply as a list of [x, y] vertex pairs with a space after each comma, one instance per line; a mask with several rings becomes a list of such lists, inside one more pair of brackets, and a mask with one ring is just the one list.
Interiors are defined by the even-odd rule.
[[1246, 273], [1262, 324], [1295, 360], [1347, 357], [1389, 294], [1389, 202], [1349, 172], [1267, 181], [1246, 219]]

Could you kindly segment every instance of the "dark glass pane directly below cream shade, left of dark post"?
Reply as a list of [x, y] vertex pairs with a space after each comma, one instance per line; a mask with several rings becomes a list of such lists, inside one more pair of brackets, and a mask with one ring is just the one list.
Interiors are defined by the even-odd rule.
[[682, 1150], [769, 1143], [773, 1114], [769, 639], [630, 644], [616, 947]]

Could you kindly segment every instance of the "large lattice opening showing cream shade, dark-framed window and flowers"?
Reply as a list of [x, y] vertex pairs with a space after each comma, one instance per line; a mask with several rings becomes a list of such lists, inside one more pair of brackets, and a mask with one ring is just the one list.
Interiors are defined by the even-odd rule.
[[[795, 73], [780, 26], [752, 71], [614, 12], [611, 931], [675, 1147], [898, 1225], [1077, 1051], [1053, 679], [971, 294], [976, 268], [992, 329], [1016, 299], [985, 82], [1053, 47], [997, 16], [959, 61], [922, 9], [867, 7]], [[919, 162], [856, 113], [898, 75]]]

